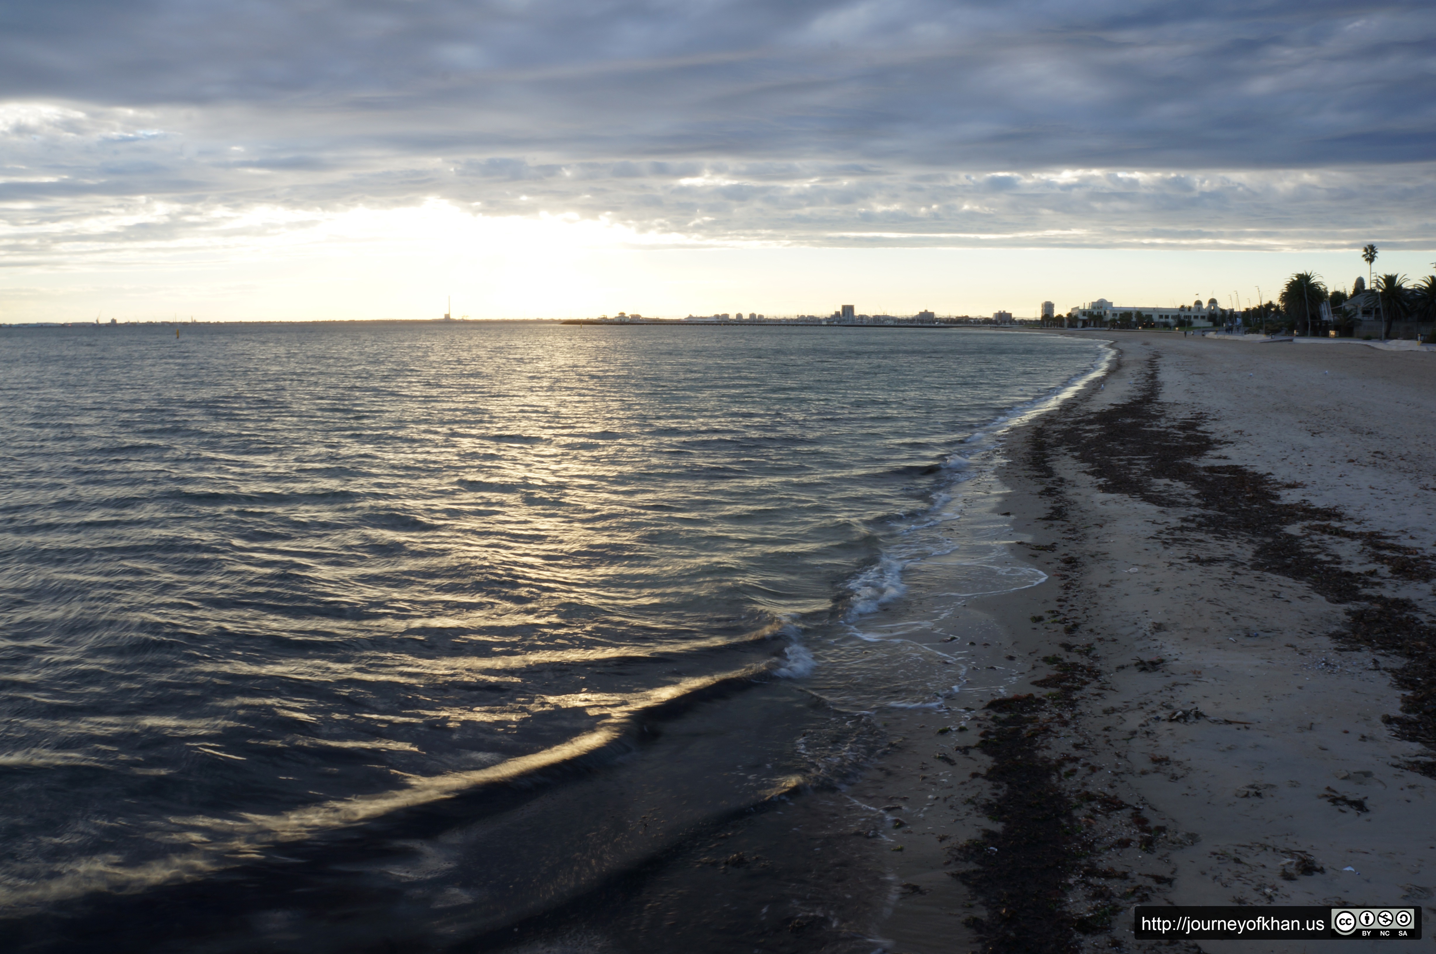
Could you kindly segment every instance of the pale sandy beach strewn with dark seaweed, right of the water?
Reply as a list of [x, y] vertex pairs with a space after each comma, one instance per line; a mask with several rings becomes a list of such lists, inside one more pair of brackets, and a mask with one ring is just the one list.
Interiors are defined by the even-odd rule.
[[1008, 441], [997, 506], [1048, 580], [959, 603], [991, 685], [889, 717], [850, 793], [886, 948], [1328, 945], [1136, 941], [1134, 904], [1436, 915], [1436, 356], [1114, 338]]

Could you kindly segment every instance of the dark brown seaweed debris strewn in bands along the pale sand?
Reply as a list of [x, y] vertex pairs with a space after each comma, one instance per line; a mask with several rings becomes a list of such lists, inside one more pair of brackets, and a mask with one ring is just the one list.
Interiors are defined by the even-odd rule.
[[[1179, 542], [1183, 532], [1245, 542], [1254, 550], [1251, 569], [1305, 583], [1333, 603], [1350, 605], [1346, 626], [1333, 634], [1338, 644], [1406, 658], [1390, 672], [1406, 693], [1402, 714], [1383, 716], [1383, 721], [1402, 738], [1436, 750], [1436, 626], [1412, 601], [1386, 596], [1376, 591], [1379, 580], [1346, 569], [1320, 537], [1357, 542], [1370, 560], [1400, 579], [1430, 582], [1436, 562], [1390, 534], [1340, 526], [1348, 519], [1338, 510], [1305, 500], [1282, 501], [1281, 491], [1295, 487], [1271, 474], [1239, 464], [1198, 463], [1226, 441], [1205, 430], [1205, 415], [1179, 417], [1162, 402], [1159, 359], [1159, 353], [1147, 358], [1127, 401], [1031, 428], [1024, 463], [1044, 484], [1040, 496], [1051, 500], [1043, 519], [1067, 520], [1063, 481], [1051, 464], [1054, 453], [1080, 461], [1106, 493], [1157, 507], [1195, 507], [1198, 513], [1183, 519], [1169, 542]], [[1298, 524], [1304, 534], [1287, 532]], [[1012, 695], [987, 707], [992, 720], [979, 750], [992, 759], [985, 774], [995, 795], [984, 810], [1002, 829], [951, 849], [954, 861], [968, 865], [955, 876], [987, 911], [985, 918], [968, 921], [987, 954], [1068, 954], [1080, 948], [1078, 932], [1106, 927], [1084, 922], [1093, 915], [1078, 918], [1067, 908], [1073, 876], [1091, 846], [1074, 823], [1077, 803], [1061, 786], [1063, 763], [1043, 751], [1050, 726], [1067, 724], [1077, 694], [1099, 677], [1094, 668], [1067, 664], [1034, 681], [1053, 690], [1045, 697]], [[1436, 777], [1436, 759], [1402, 767]]]

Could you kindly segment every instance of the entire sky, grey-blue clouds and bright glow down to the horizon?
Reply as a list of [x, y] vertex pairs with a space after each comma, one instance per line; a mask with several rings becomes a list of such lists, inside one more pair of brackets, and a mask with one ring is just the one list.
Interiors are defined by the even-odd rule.
[[1249, 303], [1433, 172], [1429, 1], [0, 6], [0, 322]]

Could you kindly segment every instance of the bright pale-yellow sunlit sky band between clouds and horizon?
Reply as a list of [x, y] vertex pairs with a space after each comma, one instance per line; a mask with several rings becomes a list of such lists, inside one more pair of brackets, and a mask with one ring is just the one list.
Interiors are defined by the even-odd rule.
[[[1360, 270], [1351, 253], [1061, 249], [1043, 246], [778, 243], [695, 240], [569, 216], [484, 216], [447, 200], [337, 213], [218, 210], [164, 241], [98, 241], [184, 214], [157, 204], [79, 223], [72, 254], [26, 272], [6, 292], [9, 320], [573, 318], [619, 310], [659, 316], [715, 312], [863, 310], [1032, 313], [1034, 289], [1176, 305], [1193, 296], [1255, 297], [1274, 276], [1314, 267], [1338, 284]], [[895, 236], [902, 240], [903, 234]], [[931, 239], [931, 237], [929, 237]], [[1414, 272], [1425, 253], [1389, 253]], [[1404, 256], [1404, 259], [1397, 259]], [[1348, 274], [1350, 273], [1350, 274]], [[1076, 305], [1064, 302], [1067, 305]]]

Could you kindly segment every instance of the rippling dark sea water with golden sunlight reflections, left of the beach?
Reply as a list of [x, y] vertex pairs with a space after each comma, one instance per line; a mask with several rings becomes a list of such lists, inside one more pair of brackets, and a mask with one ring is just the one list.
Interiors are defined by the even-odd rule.
[[134, 950], [438, 948], [840, 783], [866, 714], [966, 678], [872, 652], [932, 625], [885, 603], [1041, 579], [962, 488], [1103, 361], [992, 330], [0, 329], [0, 908], [27, 950], [197, 905]]

